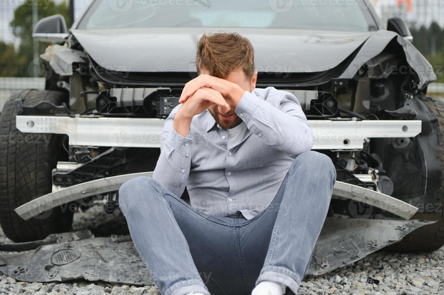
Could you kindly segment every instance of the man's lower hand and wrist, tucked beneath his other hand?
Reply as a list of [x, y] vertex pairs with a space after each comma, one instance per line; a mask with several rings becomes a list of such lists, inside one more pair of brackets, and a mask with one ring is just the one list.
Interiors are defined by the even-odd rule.
[[[180, 102], [180, 101], [179, 101]], [[209, 87], [198, 88], [183, 102], [174, 116], [173, 127], [183, 137], [190, 132], [191, 120], [195, 115], [202, 113], [211, 105], [218, 105], [219, 112], [225, 114], [230, 110], [230, 105], [218, 90]]]

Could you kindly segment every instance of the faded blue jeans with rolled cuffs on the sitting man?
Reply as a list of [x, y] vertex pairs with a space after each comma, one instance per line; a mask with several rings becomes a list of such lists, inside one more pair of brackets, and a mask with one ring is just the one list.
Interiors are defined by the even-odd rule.
[[250, 295], [263, 280], [297, 294], [329, 208], [329, 157], [296, 157], [274, 200], [250, 220], [207, 215], [150, 177], [119, 189], [135, 247], [163, 295]]

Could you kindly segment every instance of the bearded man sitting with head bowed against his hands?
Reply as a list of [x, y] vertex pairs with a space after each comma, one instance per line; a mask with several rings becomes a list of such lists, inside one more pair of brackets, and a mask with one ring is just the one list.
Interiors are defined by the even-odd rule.
[[[310, 151], [293, 94], [255, 87], [248, 39], [204, 34], [196, 65], [165, 121], [153, 178], [119, 189], [135, 247], [163, 295], [297, 294], [333, 163]], [[180, 199], [185, 187], [191, 205]]]

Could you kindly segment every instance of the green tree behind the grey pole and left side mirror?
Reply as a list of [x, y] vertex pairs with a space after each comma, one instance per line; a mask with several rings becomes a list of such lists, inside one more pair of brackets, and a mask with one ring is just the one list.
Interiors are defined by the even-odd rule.
[[[52, 0], [27, 0], [14, 11], [14, 20], [10, 26], [13, 34], [20, 38], [20, 45], [14, 58], [18, 66], [17, 76], [29, 76], [28, 65], [32, 63], [34, 43], [32, 40], [32, 5], [37, 6], [38, 20], [54, 14], [61, 14], [65, 20], [69, 20], [69, 12], [66, 3], [63, 1], [56, 4]], [[49, 43], [39, 42], [39, 54], [45, 51]]]

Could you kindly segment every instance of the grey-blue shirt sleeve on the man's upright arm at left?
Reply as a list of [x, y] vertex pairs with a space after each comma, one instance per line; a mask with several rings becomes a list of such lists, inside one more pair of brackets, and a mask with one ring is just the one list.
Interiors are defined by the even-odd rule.
[[182, 104], [176, 106], [165, 120], [160, 136], [160, 156], [153, 173], [153, 178], [177, 197], [182, 195], [188, 181], [193, 145], [191, 132], [183, 137], [173, 127], [174, 115], [180, 106]]

